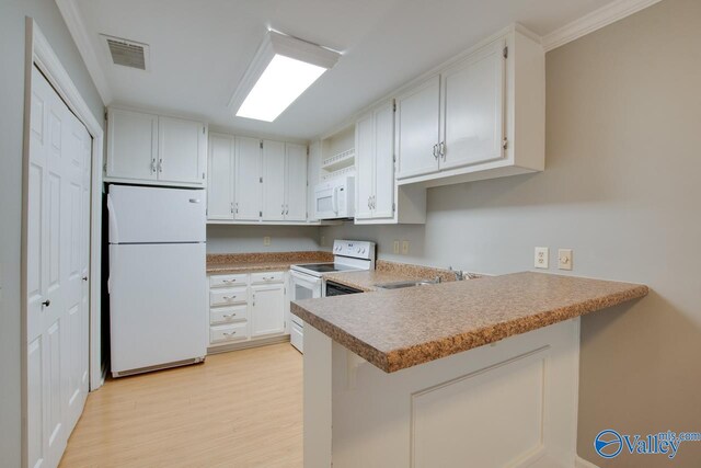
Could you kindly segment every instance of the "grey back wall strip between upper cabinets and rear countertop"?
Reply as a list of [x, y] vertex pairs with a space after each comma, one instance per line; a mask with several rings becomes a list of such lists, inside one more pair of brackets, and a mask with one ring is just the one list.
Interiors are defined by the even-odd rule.
[[[264, 246], [263, 238], [271, 237]], [[292, 252], [319, 250], [317, 226], [207, 226], [207, 253]]]

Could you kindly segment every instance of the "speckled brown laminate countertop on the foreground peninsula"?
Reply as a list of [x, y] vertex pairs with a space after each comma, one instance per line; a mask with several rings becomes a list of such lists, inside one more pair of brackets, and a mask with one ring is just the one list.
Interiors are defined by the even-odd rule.
[[291, 312], [392, 373], [647, 293], [643, 285], [525, 272], [300, 300]]

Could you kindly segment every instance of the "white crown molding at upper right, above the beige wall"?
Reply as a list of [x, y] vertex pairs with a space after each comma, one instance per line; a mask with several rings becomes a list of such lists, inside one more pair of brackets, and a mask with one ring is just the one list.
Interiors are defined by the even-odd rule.
[[662, 0], [616, 0], [542, 37], [545, 52], [600, 30]]

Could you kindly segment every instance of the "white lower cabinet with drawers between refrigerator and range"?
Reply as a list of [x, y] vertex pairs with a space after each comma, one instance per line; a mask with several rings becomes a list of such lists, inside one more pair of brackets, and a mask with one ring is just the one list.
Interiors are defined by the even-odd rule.
[[209, 347], [284, 336], [285, 272], [209, 275]]

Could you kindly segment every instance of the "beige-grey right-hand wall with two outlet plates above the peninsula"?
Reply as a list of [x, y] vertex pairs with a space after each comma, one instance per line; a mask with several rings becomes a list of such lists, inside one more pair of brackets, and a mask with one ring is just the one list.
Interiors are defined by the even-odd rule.
[[[417, 263], [486, 273], [574, 249], [573, 274], [647, 284], [582, 321], [579, 455], [601, 467], [698, 467], [701, 444], [604, 460], [594, 436], [699, 431], [701, 2], [664, 0], [547, 55], [547, 169], [428, 191], [425, 227], [331, 227], [327, 239], [411, 239]], [[416, 246], [416, 243], [423, 246]]]

